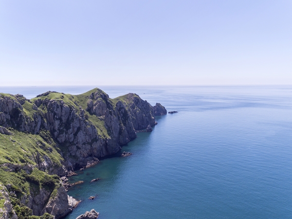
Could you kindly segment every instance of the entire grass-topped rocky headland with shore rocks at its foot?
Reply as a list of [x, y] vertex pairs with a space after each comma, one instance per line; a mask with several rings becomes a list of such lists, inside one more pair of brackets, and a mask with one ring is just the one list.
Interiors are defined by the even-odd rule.
[[[48, 91], [30, 100], [0, 93], [0, 218], [66, 216], [80, 202], [66, 189], [83, 183], [67, 177], [117, 153], [137, 131], [152, 131], [155, 116], [166, 113], [135, 93], [111, 99], [97, 88], [79, 95]], [[78, 219], [98, 214], [92, 209]]]

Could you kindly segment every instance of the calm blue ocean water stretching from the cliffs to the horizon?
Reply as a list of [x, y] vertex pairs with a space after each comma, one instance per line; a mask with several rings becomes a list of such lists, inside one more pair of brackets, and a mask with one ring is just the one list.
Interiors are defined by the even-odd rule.
[[[93, 87], [0, 87], [27, 98]], [[82, 200], [66, 219], [94, 208], [100, 219], [291, 219], [292, 86], [99, 87], [135, 92], [179, 113], [79, 172]], [[90, 183], [94, 178], [100, 181]], [[96, 196], [89, 200], [90, 196]]]

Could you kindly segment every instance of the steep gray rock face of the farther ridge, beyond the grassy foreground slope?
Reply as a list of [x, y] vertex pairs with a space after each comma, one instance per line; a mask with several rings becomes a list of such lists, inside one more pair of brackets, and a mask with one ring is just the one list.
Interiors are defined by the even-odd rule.
[[[72, 96], [73, 103], [63, 100], [65, 94], [60, 96], [61, 99], [50, 99], [51, 91], [38, 95], [34, 103], [22, 95], [0, 96], [0, 133], [9, 134], [5, 129], [7, 127], [33, 134], [42, 129], [49, 130], [57, 146], [66, 148], [66, 151], [62, 151], [65, 152], [64, 167], [54, 172], [50, 168], [53, 166], [51, 159], [40, 158], [39, 155], [36, 155], [36, 162], [41, 170], [49, 170], [58, 175], [63, 172], [64, 175], [65, 169], [86, 167], [85, 159], [116, 153], [121, 145], [136, 137], [136, 130], [156, 124], [154, 108], [137, 94], [129, 93], [125, 95], [124, 101], [114, 103], [103, 91], [93, 91], [95, 92], [83, 97], [84, 100], [73, 99]], [[86, 101], [85, 110], [82, 108], [82, 101]], [[27, 103], [31, 107], [26, 109], [30, 110], [30, 116], [23, 109], [23, 106], [27, 108]], [[162, 108], [160, 104], [155, 106], [156, 111]], [[103, 128], [108, 136], [99, 134], [99, 129]]]

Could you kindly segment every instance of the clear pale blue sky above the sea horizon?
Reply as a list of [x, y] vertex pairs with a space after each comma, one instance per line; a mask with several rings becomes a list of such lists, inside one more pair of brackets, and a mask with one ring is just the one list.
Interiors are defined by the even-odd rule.
[[0, 0], [0, 86], [270, 84], [291, 0]]

